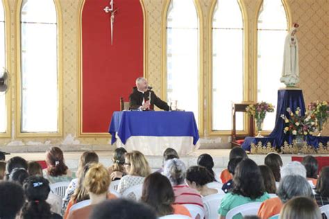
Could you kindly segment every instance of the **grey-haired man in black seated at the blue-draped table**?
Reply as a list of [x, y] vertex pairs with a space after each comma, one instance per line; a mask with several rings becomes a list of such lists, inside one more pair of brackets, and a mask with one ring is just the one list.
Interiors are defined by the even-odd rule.
[[[151, 97], [151, 100], [150, 100]], [[133, 87], [133, 93], [129, 96], [129, 106], [130, 109], [140, 109], [140, 110], [148, 110], [153, 109], [153, 105], [156, 105], [160, 109], [169, 110], [169, 105], [158, 98], [154, 94], [147, 84], [147, 80], [145, 78], [137, 78], [136, 79], [136, 87]]]

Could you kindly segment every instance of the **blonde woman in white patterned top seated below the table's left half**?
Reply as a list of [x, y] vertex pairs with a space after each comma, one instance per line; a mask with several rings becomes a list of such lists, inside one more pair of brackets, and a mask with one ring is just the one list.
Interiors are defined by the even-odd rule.
[[[145, 177], [151, 173], [145, 156], [137, 150], [126, 153], [124, 167], [127, 175], [122, 177], [119, 182], [118, 192], [121, 194], [131, 186], [143, 184]], [[128, 198], [135, 199], [135, 195], [131, 194]]]

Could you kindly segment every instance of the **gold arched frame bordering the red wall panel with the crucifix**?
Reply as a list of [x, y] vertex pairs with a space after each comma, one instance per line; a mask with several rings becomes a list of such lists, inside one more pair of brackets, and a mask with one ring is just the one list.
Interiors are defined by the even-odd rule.
[[[105, 137], [109, 138], [111, 135], [108, 132], [83, 132], [83, 111], [82, 111], [82, 106], [83, 106], [83, 48], [82, 48], [82, 13], [83, 13], [83, 6], [85, 5], [85, 1], [81, 1], [81, 3], [78, 6], [78, 137], [92, 137], [92, 138], [98, 138], [98, 137]], [[143, 76], [144, 78], [147, 78], [147, 44], [146, 44], [146, 37], [147, 37], [147, 17], [146, 17], [146, 9], [144, 5], [144, 0], [140, 0], [140, 5], [142, 7], [142, 12], [143, 12], [143, 22], [144, 22], [144, 33], [143, 33], [143, 64], [144, 64], [144, 73]], [[118, 101], [119, 104], [119, 101]]]

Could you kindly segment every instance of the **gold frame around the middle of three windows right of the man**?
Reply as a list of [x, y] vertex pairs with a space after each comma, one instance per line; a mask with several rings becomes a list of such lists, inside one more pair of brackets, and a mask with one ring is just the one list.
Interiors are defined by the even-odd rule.
[[[234, 1], [234, 0], [232, 0]], [[212, 1], [212, 5], [210, 6], [210, 16], [209, 16], [209, 24], [208, 24], [208, 112], [207, 112], [207, 132], [210, 136], [225, 136], [225, 135], [231, 135], [231, 130], [219, 130], [214, 131], [212, 130], [212, 19], [214, 17], [214, 8], [216, 7], [217, 0]], [[249, 85], [248, 85], [248, 78], [249, 78], [249, 71], [248, 71], [248, 52], [249, 52], [249, 44], [248, 44], [248, 14], [246, 12], [246, 7], [244, 6], [244, 3], [242, 0], [237, 0], [239, 3], [239, 9], [242, 13], [242, 20], [243, 20], [243, 38], [244, 38], [244, 102], [250, 102], [248, 98], [248, 91], [249, 91]], [[248, 119], [247, 115], [244, 115], [244, 130], [237, 131], [237, 134], [248, 134]]]

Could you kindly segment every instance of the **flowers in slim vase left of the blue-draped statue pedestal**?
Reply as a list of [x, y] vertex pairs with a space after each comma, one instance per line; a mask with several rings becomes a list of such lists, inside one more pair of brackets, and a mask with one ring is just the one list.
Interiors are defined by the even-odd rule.
[[248, 107], [246, 107], [246, 112], [248, 113], [249, 116], [255, 117], [257, 130], [258, 130], [257, 137], [262, 137], [260, 135], [260, 131], [262, 131], [262, 123], [265, 119], [267, 112], [274, 112], [273, 105], [271, 103], [266, 103], [266, 102], [251, 104], [248, 105]]

